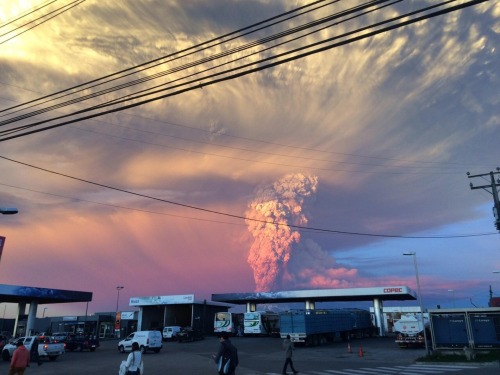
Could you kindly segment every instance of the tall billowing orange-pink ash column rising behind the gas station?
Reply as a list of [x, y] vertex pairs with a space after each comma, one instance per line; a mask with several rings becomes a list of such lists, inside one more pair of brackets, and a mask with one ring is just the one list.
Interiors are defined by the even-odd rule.
[[257, 188], [246, 211], [246, 217], [253, 219], [246, 220], [254, 238], [247, 261], [253, 270], [256, 292], [282, 287], [293, 245], [300, 242], [300, 233], [279, 224], [307, 224], [303, 206], [314, 195], [317, 185], [316, 176], [295, 173]]

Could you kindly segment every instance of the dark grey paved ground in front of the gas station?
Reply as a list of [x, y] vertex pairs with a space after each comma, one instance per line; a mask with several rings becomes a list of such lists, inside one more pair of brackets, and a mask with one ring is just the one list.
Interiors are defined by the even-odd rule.
[[[281, 340], [276, 338], [236, 337], [240, 366], [237, 375], [280, 375], [284, 362]], [[125, 354], [118, 353], [116, 341], [105, 341], [96, 352], [68, 352], [55, 362], [32, 366], [26, 375], [116, 375]], [[216, 374], [211, 360], [218, 348], [215, 337], [192, 343], [164, 343], [163, 350], [144, 357], [145, 375], [210, 375]], [[362, 356], [360, 356], [362, 349]], [[429, 375], [429, 374], [499, 374], [498, 367], [477, 365], [419, 364], [423, 349], [399, 349], [390, 338], [354, 340], [351, 352], [347, 344], [337, 341], [331, 345], [297, 348], [295, 367], [300, 375]], [[7, 373], [7, 362], [0, 363], [0, 374]]]

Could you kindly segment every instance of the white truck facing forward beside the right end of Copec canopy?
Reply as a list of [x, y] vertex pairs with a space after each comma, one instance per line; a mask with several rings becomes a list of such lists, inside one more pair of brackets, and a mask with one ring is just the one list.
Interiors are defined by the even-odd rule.
[[416, 314], [404, 314], [401, 319], [394, 322], [394, 331], [396, 333], [396, 344], [400, 348], [424, 347], [426, 330], [427, 337], [430, 336], [429, 321]]

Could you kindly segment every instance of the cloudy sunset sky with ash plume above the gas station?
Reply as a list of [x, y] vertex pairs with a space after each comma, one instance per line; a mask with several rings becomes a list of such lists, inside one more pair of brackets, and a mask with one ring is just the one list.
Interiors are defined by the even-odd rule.
[[[311, 3], [3, 1], [0, 130], [57, 126], [0, 136], [0, 207], [19, 210], [0, 217], [0, 283], [92, 292], [89, 314], [133, 310], [138, 296], [416, 290], [403, 255], [415, 252], [424, 307], [485, 307], [490, 286], [500, 297], [493, 197], [469, 187], [489, 176], [466, 175], [500, 166], [500, 4], [339, 37], [429, 4], [385, 3], [282, 44], [264, 40], [360, 4]], [[309, 12], [241, 31], [302, 6]], [[328, 38], [344, 42], [266, 66]], [[150, 61], [157, 66], [12, 108]], [[243, 64], [260, 70], [208, 77]], [[186, 90], [171, 87], [187, 75]], [[135, 79], [144, 80], [113, 91]], [[152, 87], [170, 91], [144, 104], [133, 96]], [[89, 109], [102, 103], [116, 110]], [[74, 121], [54, 120], [63, 115]], [[45, 316], [86, 310], [42, 305], [38, 316], [43, 307]], [[4, 316], [14, 309], [5, 304]]]

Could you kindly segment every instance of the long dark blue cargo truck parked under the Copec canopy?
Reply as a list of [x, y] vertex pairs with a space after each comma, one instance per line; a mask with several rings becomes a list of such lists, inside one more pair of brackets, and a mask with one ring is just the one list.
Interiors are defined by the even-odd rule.
[[336, 335], [371, 334], [370, 313], [362, 309], [291, 310], [280, 312], [280, 336], [306, 346], [333, 342]]

